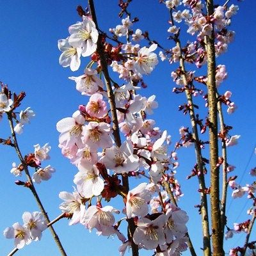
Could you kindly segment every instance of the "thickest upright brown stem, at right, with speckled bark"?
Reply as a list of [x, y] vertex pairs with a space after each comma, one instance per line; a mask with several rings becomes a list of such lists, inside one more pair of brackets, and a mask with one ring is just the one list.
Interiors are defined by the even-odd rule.
[[[207, 15], [214, 13], [213, 0], [206, 0]], [[214, 24], [212, 24], [212, 27]], [[214, 48], [214, 28], [210, 36], [206, 36], [207, 50], [207, 88], [209, 102], [209, 142], [211, 168], [211, 222], [212, 222], [212, 254], [225, 255], [221, 232], [220, 214], [220, 170], [218, 167], [218, 110], [216, 90], [216, 55]]]

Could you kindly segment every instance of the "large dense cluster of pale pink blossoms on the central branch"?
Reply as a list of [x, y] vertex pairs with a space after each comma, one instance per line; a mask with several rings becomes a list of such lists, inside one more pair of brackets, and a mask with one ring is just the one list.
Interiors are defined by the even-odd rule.
[[[81, 22], [77, 24], [80, 25], [70, 27], [71, 35], [65, 41], [76, 47], [76, 52], [79, 47], [86, 49], [84, 44], [89, 44], [87, 40], [90, 37], [88, 35], [88, 38], [84, 39], [83, 36], [83, 44], [74, 44], [74, 38], [77, 40], [79, 33], [82, 33], [76, 31], [76, 36], [72, 34], [73, 27], [82, 26]], [[93, 31], [98, 35], [90, 17], [83, 17], [83, 26], [88, 33]], [[122, 25], [111, 29], [111, 32], [118, 37], [132, 35], [134, 42], [143, 39], [140, 29], [132, 33], [131, 26], [132, 22], [127, 17], [122, 20]], [[104, 35], [100, 35], [100, 38], [102, 36], [104, 38]], [[167, 131], [161, 131], [155, 126], [154, 120], [147, 118], [147, 115], [152, 115], [153, 109], [157, 108], [156, 96], [147, 98], [138, 93], [139, 83], [143, 86], [143, 76], [150, 74], [158, 63], [157, 54], [154, 53], [157, 44], [140, 47], [138, 44], [126, 43], [115, 47], [104, 41], [108, 65], [125, 81], [122, 85], [113, 83], [112, 86], [114, 111], [119, 131], [125, 138], [124, 142], [118, 143], [111, 125], [111, 122], [115, 121], [109, 116], [113, 111], [108, 96], [110, 92], [100, 79], [103, 72], [100, 52], [95, 51], [96, 41], [91, 42], [91, 46], [94, 45], [91, 47], [94, 51], [90, 53], [93, 53], [92, 61], [84, 69], [84, 74], [69, 77], [75, 81], [77, 91], [89, 97], [88, 103], [80, 105], [71, 117], [63, 118], [56, 125], [60, 132], [61, 152], [78, 169], [74, 176], [74, 192], [63, 191], [59, 195], [64, 201], [60, 209], [69, 214], [69, 225], [81, 223], [89, 230], [95, 228], [97, 234], [102, 236], [116, 234], [122, 241], [119, 248], [122, 255], [131, 243], [147, 250], [161, 248], [160, 250], [166, 253], [182, 252], [187, 248], [188, 216], [170, 202], [168, 195], [165, 195], [163, 201], [166, 193], [163, 191], [163, 184], [166, 181], [176, 199], [182, 195], [179, 183], [174, 178], [174, 170], [178, 164], [173, 163], [172, 158], [176, 161], [177, 153], [170, 154], [168, 151], [170, 136]], [[59, 40], [59, 45], [60, 42], [63, 41]], [[82, 52], [81, 55], [87, 56], [87, 53]], [[63, 60], [63, 56], [67, 56], [65, 51], [61, 54], [60, 60]], [[74, 55], [72, 58], [77, 56]], [[66, 62], [70, 69], [74, 70], [70, 62]], [[63, 65], [61, 61], [60, 64]], [[124, 177], [143, 176], [148, 177], [148, 182], [142, 182], [129, 191], [125, 189], [124, 181], [122, 182]], [[122, 211], [125, 217], [116, 221], [115, 214], [120, 214], [120, 211], [111, 205], [103, 206], [102, 199], [110, 202], [118, 195], [122, 196], [125, 203]], [[154, 204], [151, 203], [152, 200]], [[163, 204], [157, 205], [157, 201]], [[133, 241], [125, 238], [119, 230], [123, 219], [134, 222], [136, 230]]]

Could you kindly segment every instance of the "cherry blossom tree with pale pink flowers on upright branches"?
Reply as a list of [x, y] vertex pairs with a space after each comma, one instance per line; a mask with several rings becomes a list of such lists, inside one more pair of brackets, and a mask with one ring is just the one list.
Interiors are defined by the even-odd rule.
[[[68, 225], [81, 224], [99, 236], [115, 235], [120, 255], [125, 255], [127, 248], [132, 256], [140, 255], [141, 250], [157, 256], [180, 255], [187, 250], [197, 255], [187, 227], [189, 216], [186, 208], [179, 206], [184, 181], [177, 179], [178, 156], [180, 148], [187, 147], [195, 148], [195, 165], [187, 179], [198, 179], [200, 204], [196, 207], [202, 219], [202, 253], [225, 255], [225, 239], [244, 232], [244, 244], [230, 248], [229, 255], [246, 255], [248, 249], [255, 255], [256, 241], [250, 236], [256, 218], [256, 186], [255, 182], [237, 184], [237, 175], [230, 176], [235, 167], [228, 164], [228, 148], [238, 143], [240, 135], [231, 135], [224, 109], [230, 115], [237, 106], [231, 100], [232, 92], [221, 88], [227, 70], [217, 62], [234, 38], [229, 29], [239, 6], [229, 0], [161, 0], [163, 12], [170, 15], [165, 42], [164, 38], [151, 38], [150, 31], [134, 28], [140, 23], [130, 13], [130, 4], [131, 0], [120, 0], [120, 24], [102, 31], [93, 0], [88, 0], [88, 8], [77, 7], [80, 20], [70, 25], [69, 35], [58, 40], [60, 65], [71, 72], [81, 69], [81, 76], [68, 78], [87, 102], [56, 124], [61, 154], [76, 166], [77, 173], [72, 192], [60, 191], [61, 214], [53, 221], [35, 186], [54, 175], [51, 165], [42, 165], [50, 159], [51, 146], [36, 144], [34, 152], [22, 155], [17, 134], [22, 134], [35, 113], [30, 107], [18, 111], [26, 93], [17, 95], [1, 84], [0, 114], [8, 119], [10, 137], [1, 138], [0, 143], [17, 152], [20, 163], [13, 163], [11, 173], [16, 177], [25, 173], [26, 178], [15, 184], [31, 191], [40, 210], [24, 212], [23, 225], [14, 223], [4, 230], [6, 238], [14, 239], [15, 248], [9, 255], [40, 240], [46, 228], [51, 229], [61, 255], [67, 255], [52, 227], [62, 218], [70, 219]], [[183, 34], [189, 35], [189, 41], [183, 42]], [[81, 67], [81, 58], [87, 61], [85, 67]], [[190, 125], [179, 129], [180, 140], [175, 143], [166, 127], [157, 127], [148, 118], [158, 107], [156, 95], [143, 96], [144, 79], [159, 61], [170, 63], [168, 72], [176, 84], [173, 93], [186, 100], [179, 111]], [[250, 174], [255, 176], [255, 168]], [[135, 179], [141, 182], [134, 185]], [[249, 219], [234, 223], [234, 228], [228, 223], [228, 188], [233, 198], [247, 195], [252, 202]], [[116, 208], [116, 201], [121, 209]]]

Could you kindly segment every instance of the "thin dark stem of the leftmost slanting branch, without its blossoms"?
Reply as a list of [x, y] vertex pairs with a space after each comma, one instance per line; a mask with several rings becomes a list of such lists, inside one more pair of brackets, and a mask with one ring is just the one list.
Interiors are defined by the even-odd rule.
[[[12, 132], [12, 138], [13, 138], [13, 144], [14, 144], [14, 147], [15, 147], [15, 150], [17, 152], [17, 156], [19, 157], [20, 159], [20, 162], [22, 163], [22, 166], [24, 166], [24, 171], [26, 173], [26, 177], [28, 179], [28, 182], [29, 182], [29, 185], [28, 185], [28, 188], [31, 190], [31, 192], [33, 193], [33, 196], [35, 197], [35, 200], [36, 200], [36, 203], [38, 204], [38, 207], [40, 209], [40, 211], [42, 212], [42, 214], [44, 215], [44, 218], [45, 220], [47, 220], [48, 223], [51, 223], [50, 222], [50, 219], [47, 215], [47, 212], [45, 211], [44, 209], [44, 205], [42, 204], [37, 192], [36, 192], [36, 189], [35, 189], [35, 186], [33, 184], [33, 181], [31, 179], [31, 176], [29, 174], [29, 170], [28, 170], [28, 165], [26, 164], [26, 162], [24, 161], [24, 158], [20, 152], [20, 148], [19, 148], [19, 145], [18, 145], [18, 142], [17, 142], [17, 138], [16, 138], [16, 134], [15, 134], [15, 131], [14, 131], [14, 127], [13, 127], [13, 119], [12, 119], [12, 112], [7, 112], [7, 116], [8, 116], [8, 120], [9, 120], [9, 124], [10, 124], [10, 129], [11, 129], [11, 132]], [[66, 256], [66, 252], [60, 242], [60, 239], [58, 237], [58, 235], [56, 234], [54, 228], [52, 226], [49, 227], [50, 230], [51, 230], [51, 233], [52, 233], [52, 236], [54, 238], [54, 241], [55, 243], [57, 244], [60, 252], [61, 252], [61, 255], [63, 256]]]

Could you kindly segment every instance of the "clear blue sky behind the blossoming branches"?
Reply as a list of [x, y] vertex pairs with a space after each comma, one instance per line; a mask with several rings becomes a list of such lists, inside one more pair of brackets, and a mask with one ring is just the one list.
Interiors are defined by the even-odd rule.
[[[98, 23], [100, 28], [105, 31], [120, 24], [116, 2], [95, 1]], [[88, 100], [75, 90], [74, 82], [67, 77], [81, 75], [83, 67], [89, 59], [83, 60], [81, 68], [77, 72], [71, 72], [69, 68], [62, 68], [58, 63], [60, 51], [58, 51], [57, 41], [68, 36], [68, 26], [79, 20], [76, 6], [84, 3], [86, 4], [86, 1], [1, 1], [0, 81], [7, 83], [10, 89], [17, 93], [25, 91], [27, 97], [23, 102], [22, 109], [31, 106], [36, 113], [31, 124], [25, 127], [24, 134], [18, 137], [22, 152], [24, 154], [32, 152], [33, 145], [36, 143], [44, 145], [49, 142], [52, 146], [51, 160], [45, 164], [54, 166], [56, 173], [49, 182], [42, 182], [36, 186], [51, 219], [60, 214], [58, 205], [61, 200], [58, 198], [58, 193], [72, 191], [72, 180], [77, 172], [76, 168], [61, 156], [58, 148], [59, 134], [56, 131], [56, 123], [61, 118], [71, 116], [79, 104], [86, 104], [86, 100]], [[218, 1], [218, 3], [223, 4], [224, 1]], [[237, 1], [230, 1], [230, 3], [237, 4]], [[241, 134], [239, 145], [228, 151], [228, 163], [237, 167], [232, 175], [243, 176], [243, 179], [240, 179], [241, 184], [246, 184], [252, 182], [248, 172], [256, 165], [256, 156], [250, 157], [256, 143], [256, 16], [253, 1], [239, 3], [239, 7], [240, 10], [232, 20], [231, 27], [236, 31], [235, 41], [229, 45], [228, 52], [218, 58], [217, 62], [227, 65], [228, 71], [228, 79], [221, 84], [220, 92], [232, 91], [232, 100], [238, 106], [234, 115], [225, 116], [225, 122], [234, 127], [231, 134]], [[166, 40], [168, 36], [166, 30], [169, 27], [168, 11], [163, 5], [153, 0], [147, 1], [147, 4], [146, 1], [132, 1], [130, 10], [132, 17], [140, 19], [140, 22], [134, 25], [134, 29], [148, 30], [150, 37], [163, 42], [162, 44], [166, 48], [174, 46], [173, 42]], [[186, 42], [185, 37], [182, 39]], [[156, 95], [159, 108], [150, 118], [154, 118], [161, 129], [167, 129], [172, 135], [172, 147], [174, 147], [175, 141], [179, 140], [179, 127], [189, 125], [188, 116], [183, 116], [177, 111], [178, 106], [185, 102], [184, 95], [172, 93], [175, 84], [170, 73], [176, 67], [176, 65], [173, 67], [168, 65], [167, 62], [159, 62], [152, 75], [145, 77], [148, 88], [141, 92], [145, 96]], [[202, 100], [200, 101], [202, 102]], [[6, 138], [9, 134], [7, 122], [2, 120], [0, 138]], [[2, 173], [0, 230], [4, 230], [14, 222], [21, 222], [24, 211], [37, 211], [37, 206], [28, 190], [13, 183], [17, 178], [10, 174], [12, 162], [19, 163], [13, 148], [0, 145], [0, 153]], [[184, 192], [184, 197], [179, 204], [189, 214], [189, 233], [195, 243], [196, 251], [200, 254], [200, 246], [202, 246], [202, 241], [198, 239], [201, 234], [200, 216], [194, 208], [194, 205], [199, 202], [199, 195], [196, 192], [198, 184], [196, 179], [185, 179], [195, 164], [193, 148], [181, 149], [178, 153], [180, 167], [177, 171], [177, 178]], [[207, 149], [205, 149], [204, 155], [207, 156]], [[230, 225], [233, 222], [248, 219], [241, 213], [244, 212], [241, 211], [244, 208], [244, 200], [245, 198], [228, 201], [228, 214], [230, 215], [228, 223]], [[60, 221], [54, 227], [56, 227], [68, 255], [79, 256], [87, 253], [90, 255], [102, 253], [118, 255], [117, 248], [120, 243], [116, 238], [97, 237], [94, 231], [89, 234], [88, 230], [81, 225], [68, 227], [67, 220]], [[237, 235], [228, 242], [227, 248], [242, 245], [243, 241], [244, 238], [239, 239], [239, 235]], [[0, 254], [6, 255], [12, 248], [13, 241], [0, 236]], [[42, 241], [29, 244], [17, 255], [42, 256], [59, 255], [59, 253], [47, 230], [44, 232]], [[151, 254], [141, 252], [141, 255]]]

